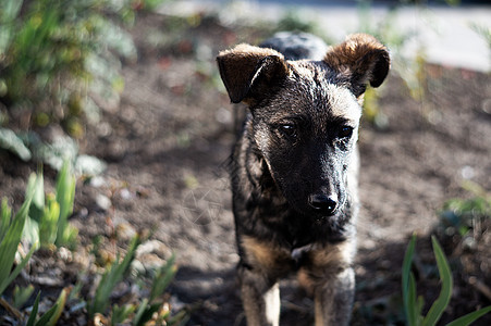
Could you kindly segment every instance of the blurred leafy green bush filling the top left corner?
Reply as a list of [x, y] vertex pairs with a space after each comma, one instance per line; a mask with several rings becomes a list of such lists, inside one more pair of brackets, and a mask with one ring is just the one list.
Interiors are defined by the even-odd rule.
[[[136, 57], [130, 34], [120, 25], [131, 24], [137, 10], [158, 3], [0, 1], [0, 103], [10, 117], [1, 120], [0, 149], [24, 161], [45, 160], [47, 146], [39, 158], [32, 153], [39, 146], [23, 135], [32, 126], [60, 124], [71, 137], [83, 137], [85, 122], [99, 121], [93, 98], [116, 103], [124, 87], [121, 58]], [[30, 129], [29, 138], [36, 136]]]

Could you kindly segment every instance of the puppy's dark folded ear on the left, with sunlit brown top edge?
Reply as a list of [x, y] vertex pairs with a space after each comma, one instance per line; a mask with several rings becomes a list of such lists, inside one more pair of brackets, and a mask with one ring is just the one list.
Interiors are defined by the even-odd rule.
[[249, 45], [220, 52], [217, 62], [233, 103], [258, 100], [278, 87], [289, 74], [283, 54]]

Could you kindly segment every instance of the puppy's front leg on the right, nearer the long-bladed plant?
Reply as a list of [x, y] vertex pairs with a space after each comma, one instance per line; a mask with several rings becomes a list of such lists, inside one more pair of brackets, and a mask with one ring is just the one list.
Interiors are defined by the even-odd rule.
[[314, 290], [316, 326], [348, 325], [355, 293], [355, 273], [346, 268]]

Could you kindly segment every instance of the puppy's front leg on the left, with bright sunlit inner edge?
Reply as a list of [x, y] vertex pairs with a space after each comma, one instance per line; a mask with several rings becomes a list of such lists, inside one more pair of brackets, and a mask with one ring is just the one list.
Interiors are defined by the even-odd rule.
[[280, 324], [280, 287], [261, 273], [240, 267], [241, 296], [249, 326]]

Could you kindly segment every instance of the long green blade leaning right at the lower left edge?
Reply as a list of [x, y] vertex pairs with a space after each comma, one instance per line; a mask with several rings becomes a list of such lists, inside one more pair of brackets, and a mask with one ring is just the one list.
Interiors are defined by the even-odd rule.
[[[5, 236], [0, 243], [0, 296], [12, 281], [12, 279], [15, 278], [19, 273], [21, 273], [19, 266], [23, 265], [23, 263], [25, 265], [25, 263], [27, 263], [27, 258], [30, 258], [29, 255], [27, 255], [23, 260], [23, 262], [17, 265], [17, 268], [15, 268], [12, 274], [10, 274], [10, 271], [14, 263], [15, 252], [17, 251], [17, 246], [21, 242], [22, 231], [27, 218], [27, 213], [29, 211], [30, 201], [33, 200], [33, 195], [34, 192], [32, 191], [27, 193], [24, 203], [22, 204], [17, 214], [15, 214], [12, 224], [10, 225]], [[32, 250], [32, 252], [34, 251]]]

